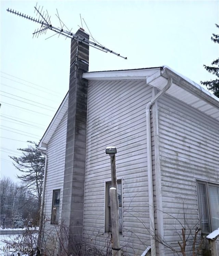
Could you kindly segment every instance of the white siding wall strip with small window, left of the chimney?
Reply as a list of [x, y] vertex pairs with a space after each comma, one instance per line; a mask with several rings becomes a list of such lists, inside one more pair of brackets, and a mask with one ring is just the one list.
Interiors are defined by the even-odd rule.
[[[52, 212], [52, 195], [53, 190], [60, 189], [60, 211], [59, 219], [61, 220], [62, 212], [62, 195], [65, 168], [65, 147], [66, 147], [66, 131], [67, 131], [67, 112], [58, 125], [56, 131], [51, 137], [47, 145], [47, 176], [45, 182], [45, 195], [43, 207], [43, 224], [42, 224], [42, 244], [44, 249], [50, 251], [57, 250], [57, 232], [59, 228], [51, 223]], [[45, 218], [47, 219], [46, 221]]]

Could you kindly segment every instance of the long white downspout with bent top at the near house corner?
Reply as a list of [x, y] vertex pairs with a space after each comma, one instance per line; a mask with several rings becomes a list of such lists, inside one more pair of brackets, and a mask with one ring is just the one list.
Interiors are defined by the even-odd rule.
[[169, 77], [167, 85], [146, 106], [146, 133], [147, 133], [147, 177], [149, 191], [149, 221], [151, 236], [151, 255], [156, 256], [155, 219], [154, 219], [154, 191], [152, 173], [152, 149], [151, 149], [151, 107], [154, 102], [162, 96], [172, 85], [172, 78]]

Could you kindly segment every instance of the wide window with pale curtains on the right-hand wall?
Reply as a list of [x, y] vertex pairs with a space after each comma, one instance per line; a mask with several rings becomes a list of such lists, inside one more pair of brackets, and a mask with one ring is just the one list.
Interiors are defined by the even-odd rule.
[[198, 210], [202, 233], [219, 227], [219, 185], [197, 181]]

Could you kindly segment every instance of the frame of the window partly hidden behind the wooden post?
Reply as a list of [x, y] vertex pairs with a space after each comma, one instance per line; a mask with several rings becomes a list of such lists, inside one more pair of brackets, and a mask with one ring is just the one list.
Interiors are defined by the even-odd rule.
[[[109, 206], [109, 198], [110, 198], [110, 185], [112, 181], [105, 181], [105, 215], [104, 215], [104, 232], [111, 233], [109, 224], [110, 224], [110, 206]], [[121, 230], [119, 231], [119, 235], [123, 236], [123, 179], [117, 179], [117, 185], [121, 184]]]

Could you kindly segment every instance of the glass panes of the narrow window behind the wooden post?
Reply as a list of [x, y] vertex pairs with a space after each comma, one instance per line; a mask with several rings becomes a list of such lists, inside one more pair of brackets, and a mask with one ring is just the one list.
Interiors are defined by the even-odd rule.
[[[111, 212], [110, 212], [110, 188], [111, 182], [106, 183], [106, 211], [105, 211], [105, 231], [112, 231], [111, 228]], [[119, 206], [119, 233], [123, 233], [123, 195], [122, 195], [122, 183], [121, 180], [117, 180], [117, 195]]]

